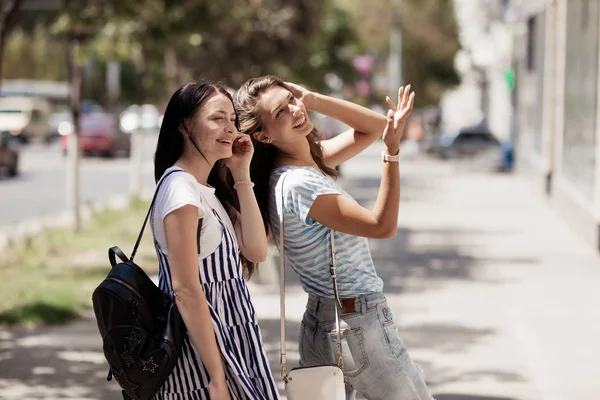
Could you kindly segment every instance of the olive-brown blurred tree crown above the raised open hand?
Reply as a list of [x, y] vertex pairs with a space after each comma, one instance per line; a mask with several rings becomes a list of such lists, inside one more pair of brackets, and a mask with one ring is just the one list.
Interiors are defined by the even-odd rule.
[[459, 83], [454, 56], [460, 44], [451, 0], [338, 1], [351, 10], [361, 43], [384, 66], [392, 18], [397, 19], [403, 81], [417, 91], [417, 106], [437, 103], [447, 87]]

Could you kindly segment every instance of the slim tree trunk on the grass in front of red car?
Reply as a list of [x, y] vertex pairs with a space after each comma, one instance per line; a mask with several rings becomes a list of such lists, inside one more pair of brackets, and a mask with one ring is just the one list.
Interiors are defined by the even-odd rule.
[[79, 43], [69, 41], [67, 44], [67, 63], [69, 81], [71, 82], [70, 108], [73, 119], [73, 132], [68, 137], [67, 145], [67, 205], [71, 211], [73, 229], [81, 229], [81, 198], [79, 195], [79, 153], [80, 153], [80, 106], [83, 89], [83, 65], [78, 59]]

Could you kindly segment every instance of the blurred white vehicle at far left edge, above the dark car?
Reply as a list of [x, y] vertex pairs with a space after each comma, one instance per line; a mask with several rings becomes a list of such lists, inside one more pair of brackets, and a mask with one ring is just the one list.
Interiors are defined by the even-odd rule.
[[50, 102], [38, 97], [0, 97], [0, 132], [6, 132], [22, 143], [49, 142], [52, 127], [48, 121]]

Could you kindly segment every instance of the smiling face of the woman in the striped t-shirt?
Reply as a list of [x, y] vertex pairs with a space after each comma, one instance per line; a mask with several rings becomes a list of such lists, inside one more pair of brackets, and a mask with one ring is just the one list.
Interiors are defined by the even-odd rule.
[[260, 141], [270, 139], [274, 144], [296, 142], [313, 130], [304, 103], [281, 86], [273, 86], [261, 96], [260, 121], [262, 131], [255, 137]]

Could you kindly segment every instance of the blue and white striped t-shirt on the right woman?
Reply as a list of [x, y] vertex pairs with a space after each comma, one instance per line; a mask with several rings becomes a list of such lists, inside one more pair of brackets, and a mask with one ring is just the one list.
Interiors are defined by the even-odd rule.
[[[283, 179], [280, 179], [282, 175]], [[269, 218], [278, 245], [283, 189], [284, 241], [288, 265], [300, 275], [306, 292], [333, 297], [333, 284], [329, 273], [330, 229], [311, 219], [308, 212], [320, 195], [340, 194], [352, 197], [340, 188], [333, 178], [312, 167], [276, 168], [271, 173], [269, 186]], [[375, 272], [367, 238], [337, 231], [334, 235], [340, 297], [349, 298], [381, 292], [383, 281]]]

